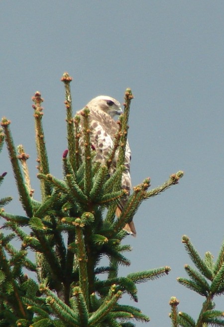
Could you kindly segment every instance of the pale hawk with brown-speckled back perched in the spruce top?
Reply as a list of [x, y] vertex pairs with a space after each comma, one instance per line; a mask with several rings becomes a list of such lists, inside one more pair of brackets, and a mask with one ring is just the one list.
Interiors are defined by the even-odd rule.
[[[90, 124], [90, 139], [92, 146], [96, 149], [95, 160], [101, 164], [106, 164], [108, 155], [113, 148], [114, 135], [118, 130], [118, 124], [113, 119], [115, 115], [120, 115], [122, 109], [120, 103], [108, 96], [99, 96], [92, 99], [87, 106], [90, 110], [89, 124]], [[77, 114], [81, 116], [82, 110]], [[82, 118], [80, 120], [82, 127]], [[81, 138], [80, 145], [84, 148], [84, 140]], [[131, 177], [130, 177], [130, 159], [131, 151], [126, 144], [124, 166], [125, 170], [122, 173], [121, 187], [127, 190], [128, 194], [131, 190]], [[109, 174], [112, 175], [116, 170], [118, 160], [118, 151], [115, 152]], [[120, 203], [116, 209], [116, 216], [119, 217], [122, 211], [123, 203]], [[123, 228], [127, 233], [136, 235], [136, 230], [133, 221], [127, 223]]]

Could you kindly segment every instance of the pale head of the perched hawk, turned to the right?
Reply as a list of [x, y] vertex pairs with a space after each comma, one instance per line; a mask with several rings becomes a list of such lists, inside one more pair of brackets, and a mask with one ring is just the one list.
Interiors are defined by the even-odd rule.
[[99, 96], [91, 100], [87, 107], [96, 108], [108, 113], [111, 117], [114, 117], [116, 114], [121, 114], [123, 111], [120, 107], [120, 103], [108, 96]]

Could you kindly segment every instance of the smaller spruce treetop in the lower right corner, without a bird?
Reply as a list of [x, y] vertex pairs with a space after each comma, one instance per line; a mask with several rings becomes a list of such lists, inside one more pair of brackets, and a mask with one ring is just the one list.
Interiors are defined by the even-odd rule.
[[179, 277], [177, 281], [203, 296], [205, 301], [202, 304], [198, 319], [195, 321], [189, 314], [178, 312], [179, 301], [176, 297], [171, 297], [170, 318], [172, 327], [224, 326], [224, 311], [215, 310], [216, 304], [214, 302], [216, 296], [224, 294], [224, 242], [216, 262], [211, 252], [206, 252], [205, 258], [201, 258], [187, 235], [182, 237], [182, 242], [198, 271], [185, 265], [185, 271], [190, 279]]

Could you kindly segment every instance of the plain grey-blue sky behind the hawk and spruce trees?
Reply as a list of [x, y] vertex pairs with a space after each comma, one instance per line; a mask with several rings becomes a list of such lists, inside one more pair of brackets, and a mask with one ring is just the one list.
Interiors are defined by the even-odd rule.
[[[179, 285], [191, 261], [181, 242], [187, 234], [200, 254], [215, 259], [224, 238], [224, 1], [0, 1], [0, 115], [11, 120], [16, 145], [30, 155], [32, 188], [39, 200], [31, 97], [44, 98], [50, 170], [62, 177], [66, 146], [64, 72], [74, 111], [108, 95], [123, 103], [131, 88], [128, 139], [132, 184], [151, 188], [183, 170], [178, 185], [145, 201], [127, 237], [131, 266], [120, 275], [170, 266], [168, 276], [138, 285], [137, 306], [151, 321], [169, 326], [169, 300], [197, 319], [204, 298]], [[5, 210], [23, 214], [6, 148], [0, 173]], [[125, 301], [136, 306], [135, 303]], [[217, 309], [224, 310], [224, 298]], [[145, 326], [136, 323], [137, 327]]]

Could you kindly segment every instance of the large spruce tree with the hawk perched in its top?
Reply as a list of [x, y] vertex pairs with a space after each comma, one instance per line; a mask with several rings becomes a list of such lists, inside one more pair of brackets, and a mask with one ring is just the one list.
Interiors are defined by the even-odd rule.
[[[125, 251], [131, 250], [129, 245], [122, 244], [127, 236], [123, 227], [133, 218], [143, 200], [177, 184], [183, 172], [171, 175], [163, 185], [153, 190], [148, 190], [150, 179], [146, 178], [133, 188], [122, 214], [116, 218], [117, 203], [126, 197], [120, 184], [132, 93], [129, 89], [125, 92], [124, 113], [119, 119], [113, 151], [107, 164], [100, 165], [94, 161], [96, 154], [91, 148], [88, 108], [83, 110], [85, 126], [82, 130], [79, 117], [73, 117], [71, 80], [67, 73], [62, 77], [68, 139], [68, 150], [64, 151], [62, 157], [63, 180], [50, 174], [42, 127], [43, 100], [39, 92], [33, 97], [41, 201], [33, 198], [26, 164], [28, 155], [23, 146], [15, 148], [10, 121], [7, 118], [1, 120], [0, 148], [5, 139], [19, 199], [25, 212], [24, 216], [18, 216], [8, 214], [4, 209], [0, 211], [0, 216], [5, 219], [3, 228], [11, 231], [9, 234], [0, 233], [2, 327], [132, 327], [133, 320], [148, 322], [149, 318], [138, 308], [122, 305], [119, 299], [127, 293], [137, 302], [136, 284], [161, 277], [170, 271], [169, 267], [161, 267], [119, 277], [119, 265], [130, 264], [123, 255]], [[80, 155], [81, 133], [85, 138], [84, 160], [81, 160]], [[119, 163], [115, 174], [110, 177], [108, 171], [115, 151], [119, 151]], [[5, 175], [3, 173], [0, 176], [0, 183]], [[1, 207], [9, 201], [10, 197], [1, 199]], [[25, 226], [29, 227], [29, 232]], [[14, 238], [21, 241], [19, 249], [11, 243]], [[29, 250], [35, 252], [35, 262], [28, 259]], [[101, 264], [104, 256], [109, 258], [108, 266]], [[222, 260], [223, 257], [220, 264]], [[24, 268], [33, 272], [35, 278], [27, 276]], [[216, 270], [219, 269], [220, 266], [217, 266]], [[104, 279], [99, 275], [103, 275]], [[208, 276], [211, 277], [211, 268], [207, 269]], [[181, 282], [185, 283], [183, 280]], [[202, 285], [198, 285], [200, 282]], [[196, 281], [196, 284], [198, 288], [207, 287], [204, 279]], [[223, 282], [217, 280], [213, 289], [221, 292]], [[209, 293], [209, 290], [206, 292]], [[211, 306], [207, 308], [212, 310]], [[173, 317], [174, 313], [172, 321], [176, 324]]]

